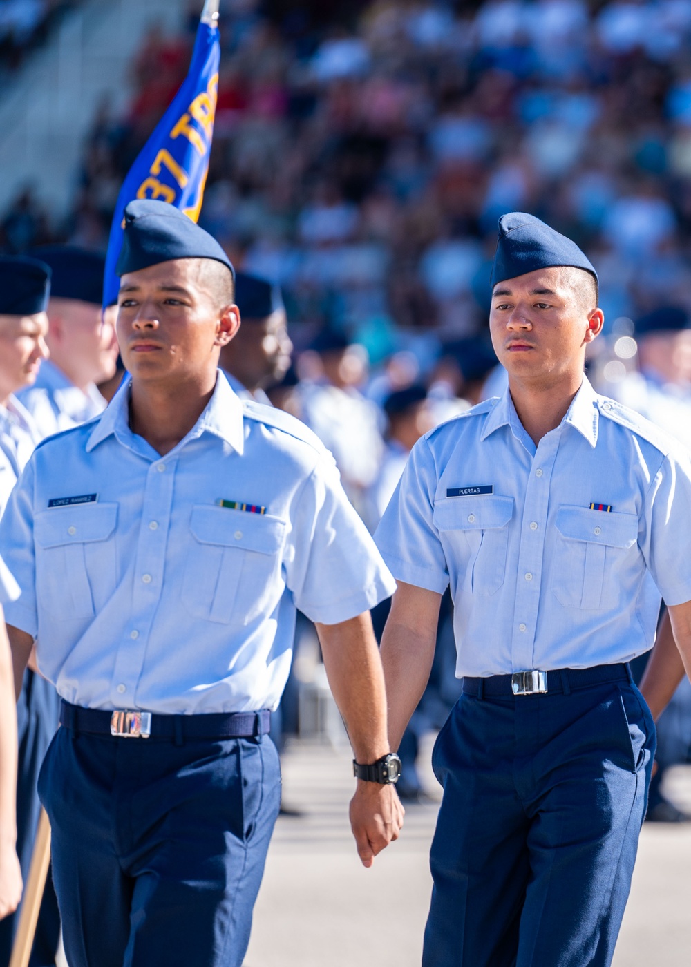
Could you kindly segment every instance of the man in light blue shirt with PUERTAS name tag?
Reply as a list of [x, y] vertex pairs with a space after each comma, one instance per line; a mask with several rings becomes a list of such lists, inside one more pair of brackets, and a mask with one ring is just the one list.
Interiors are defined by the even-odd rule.
[[597, 274], [531, 215], [502, 216], [490, 331], [502, 396], [412, 450], [376, 542], [399, 581], [381, 642], [392, 747], [424, 689], [450, 585], [463, 694], [423, 967], [609, 967], [655, 727], [628, 660], [660, 600], [691, 667], [691, 461], [597, 396]]

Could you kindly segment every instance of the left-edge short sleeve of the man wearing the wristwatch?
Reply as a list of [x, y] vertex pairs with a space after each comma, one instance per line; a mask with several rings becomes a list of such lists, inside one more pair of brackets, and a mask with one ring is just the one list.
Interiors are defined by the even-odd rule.
[[12, 491], [0, 520], [0, 552], [20, 594], [5, 605], [5, 620], [36, 637], [36, 567], [34, 554], [34, 462], [30, 460]]

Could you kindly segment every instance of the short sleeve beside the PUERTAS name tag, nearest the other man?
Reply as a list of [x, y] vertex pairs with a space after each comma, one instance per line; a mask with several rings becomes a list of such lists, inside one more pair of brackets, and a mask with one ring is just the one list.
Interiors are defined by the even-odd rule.
[[435, 459], [422, 437], [410, 452], [401, 483], [376, 529], [375, 541], [397, 580], [443, 594], [449, 574], [433, 522], [436, 483]]

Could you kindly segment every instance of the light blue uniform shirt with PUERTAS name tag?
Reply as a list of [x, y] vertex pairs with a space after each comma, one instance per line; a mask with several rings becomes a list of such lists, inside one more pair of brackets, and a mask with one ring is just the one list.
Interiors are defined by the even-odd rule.
[[450, 583], [459, 677], [626, 661], [660, 595], [691, 600], [689, 456], [586, 378], [535, 447], [507, 390], [418, 441], [375, 539], [399, 580]]

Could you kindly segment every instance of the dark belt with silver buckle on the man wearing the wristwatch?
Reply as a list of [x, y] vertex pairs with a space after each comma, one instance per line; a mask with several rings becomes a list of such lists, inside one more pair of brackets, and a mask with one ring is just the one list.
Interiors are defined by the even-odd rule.
[[146, 712], [104, 712], [72, 705], [63, 698], [60, 724], [75, 732], [107, 735], [116, 739], [169, 739], [176, 743], [195, 739], [253, 739], [271, 726], [268, 709], [260, 712], [213, 712], [198, 716], [163, 716]]

